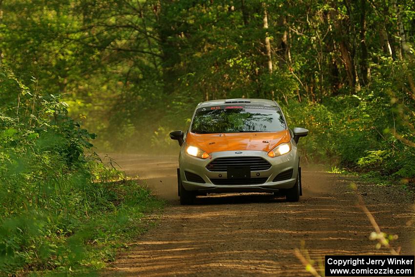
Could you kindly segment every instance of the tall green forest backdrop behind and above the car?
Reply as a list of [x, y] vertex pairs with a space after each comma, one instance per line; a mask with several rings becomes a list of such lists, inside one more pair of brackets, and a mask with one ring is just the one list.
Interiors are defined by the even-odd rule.
[[[399, 119], [414, 117], [415, 12], [413, 0], [396, 5], [19, 0], [2, 4], [0, 49], [36, 102], [64, 92], [70, 115], [109, 150], [169, 149], [168, 132], [186, 129], [198, 102], [274, 95], [293, 123], [312, 130], [302, 143], [309, 160], [360, 167], [366, 151], [399, 144], [379, 135], [391, 117], [413, 133]], [[25, 107], [5, 94], [6, 114], [30, 117], [27, 89], [14, 86]]]

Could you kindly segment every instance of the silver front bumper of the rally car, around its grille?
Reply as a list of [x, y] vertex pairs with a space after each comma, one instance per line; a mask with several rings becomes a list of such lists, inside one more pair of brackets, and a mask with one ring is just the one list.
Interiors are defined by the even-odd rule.
[[[290, 189], [294, 186], [298, 175], [299, 157], [295, 144], [288, 154], [271, 158], [266, 151], [221, 151], [213, 152], [207, 159], [199, 159], [188, 155], [186, 146], [182, 147], [179, 156], [180, 177], [183, 187], [187, 191], [200, 193], [221, 193], [221, 192], [276, 192], [279, 189]], [[238, 152], [239, 154], [236, 154]], [[242, 152], [242, 153], [240, 153]], [[227, 171], [209, 171], [206, 166], [217, 158], [228, 157], [261, 157], [271, 165], [268, 170], [250, 171], [250, 177], [266, 178], [262, 184], [213, 184], [211, 179], [227, 179]], [[283, 181], [273, 182], [275, 176], [286, 170], [293, 170], [292, 176]], [[188, 181], [185, 171], [199, 175], [205, 181], [204, 184]]]

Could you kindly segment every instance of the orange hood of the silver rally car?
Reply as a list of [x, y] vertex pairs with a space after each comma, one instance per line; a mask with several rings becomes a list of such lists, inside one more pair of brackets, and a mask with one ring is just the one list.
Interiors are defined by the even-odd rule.
[[277, 145], [290, 141], [290, 131], [272, 133], [221, 133], [195, 134], [187, 132], [187, 145], [196, 146], [207, 153], [235, 150], [269, 152]]

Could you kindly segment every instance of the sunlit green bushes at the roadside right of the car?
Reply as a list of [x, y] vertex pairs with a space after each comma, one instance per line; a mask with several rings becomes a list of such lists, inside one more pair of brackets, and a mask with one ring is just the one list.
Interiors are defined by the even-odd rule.
[[401, 78], [391, 76], [358, 95], [332, 97], [322, 104], [290, 101], [283, 106], [290, 126], [310, 129], [299, 143], [304, 158], [413, 178], [415, 148], [410, 143], [415, 138], [410, 129], [415, 118], [404, 114], [414, 104], [394, 102], [398, 94], [406, 96], [398, 88]]

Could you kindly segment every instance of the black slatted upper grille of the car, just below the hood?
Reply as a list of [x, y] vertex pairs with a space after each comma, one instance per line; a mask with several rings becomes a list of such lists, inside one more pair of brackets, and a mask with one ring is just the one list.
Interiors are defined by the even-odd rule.
[[269, 170], [271, 165], [261, 157], [217, 158], [207, 166], [209, 171], [228, 171], [228, 167], [248, 167], [251, 171]]

